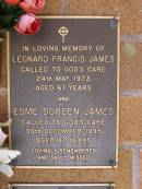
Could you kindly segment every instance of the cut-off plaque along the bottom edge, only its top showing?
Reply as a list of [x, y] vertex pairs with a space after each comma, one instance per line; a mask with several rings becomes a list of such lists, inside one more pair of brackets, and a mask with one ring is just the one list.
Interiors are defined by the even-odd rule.
[[115, 189], [110, 184], [91, 185], [10, 185], [9, 189]]

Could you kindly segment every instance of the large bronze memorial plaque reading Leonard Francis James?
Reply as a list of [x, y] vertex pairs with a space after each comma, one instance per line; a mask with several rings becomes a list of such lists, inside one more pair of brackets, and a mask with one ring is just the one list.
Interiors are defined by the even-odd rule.
[[115, 17], [49, 16], [34, 36], [10, 32], [14, 165], [117, 165], [118, 31]]

